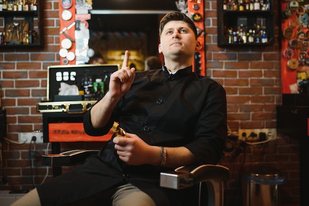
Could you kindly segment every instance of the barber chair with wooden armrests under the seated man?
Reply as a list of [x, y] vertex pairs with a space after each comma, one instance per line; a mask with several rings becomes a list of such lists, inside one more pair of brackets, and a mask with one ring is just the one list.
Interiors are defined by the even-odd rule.
[[[42, 165], [62, 167], [83, 164], [99, 150], [72, 150], [60, 154], [42, 155]], [[183, 166], [160, 173], [160, 186], [176, 190], [195, 187], [198, 206], [223, 206], [224, 181], [230, 179], [229, 169], [221, 165]], [[194, 194], [195, 195], [195, 194]]]

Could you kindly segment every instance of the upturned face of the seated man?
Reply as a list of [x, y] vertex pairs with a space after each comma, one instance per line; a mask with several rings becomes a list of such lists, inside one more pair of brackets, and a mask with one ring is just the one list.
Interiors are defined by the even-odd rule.
[[170, 21], [163, 28], [158, 50], [164, 57], [172, 58], [182, 55], [192, 56], [198, 46], [200, 44], [187, 23]]

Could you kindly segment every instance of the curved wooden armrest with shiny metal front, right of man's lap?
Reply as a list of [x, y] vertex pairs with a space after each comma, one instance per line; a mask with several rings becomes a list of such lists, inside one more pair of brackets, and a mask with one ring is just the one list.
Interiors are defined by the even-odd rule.
[[221, 165], [183, 166], [175, 171], [161, 172], [160, 186], [182, 189], [211, 179], [228, 181], [230, 179], [229, 169]]

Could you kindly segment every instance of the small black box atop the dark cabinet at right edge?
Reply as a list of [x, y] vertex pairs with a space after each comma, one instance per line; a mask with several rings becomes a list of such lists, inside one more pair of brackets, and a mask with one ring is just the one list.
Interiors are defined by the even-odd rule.
[[286, 106], [308, 106], [309, 94], [282, 94], [282, 105]]

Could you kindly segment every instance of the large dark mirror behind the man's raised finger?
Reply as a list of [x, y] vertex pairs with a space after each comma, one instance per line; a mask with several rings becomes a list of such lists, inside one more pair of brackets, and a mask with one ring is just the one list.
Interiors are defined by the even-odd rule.
[[[187, 0], [181, 1], [187, 8]], [[148, 56], [158, 54], [160, 19], [177, 9], [175, 0], [93, 0], [89, 22], [89, 48], [105, 64], [122, 64], [125, 50], [137, 70], [144, 70]], [[179, 5], [179, 4], [178, 4]], [[163, 62], [162, 56], [159, 56]]]

